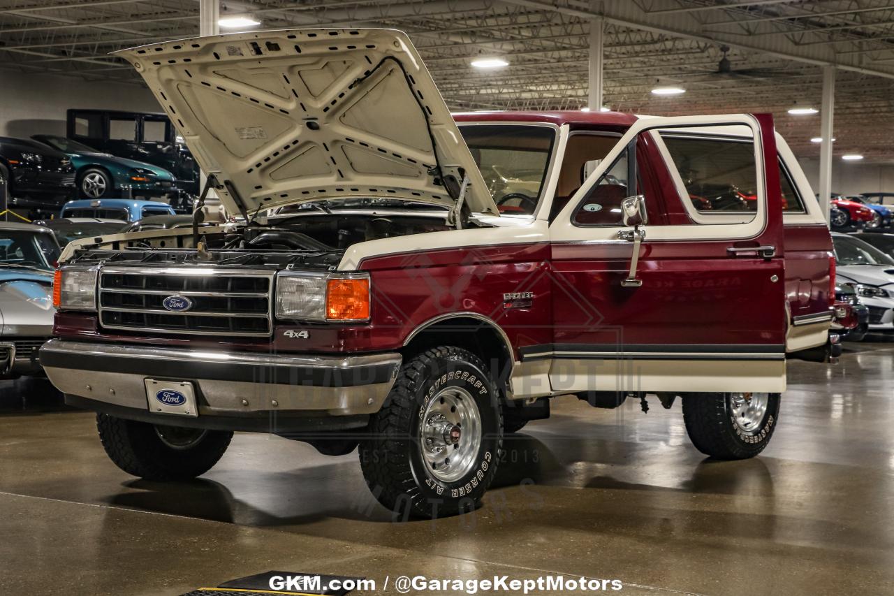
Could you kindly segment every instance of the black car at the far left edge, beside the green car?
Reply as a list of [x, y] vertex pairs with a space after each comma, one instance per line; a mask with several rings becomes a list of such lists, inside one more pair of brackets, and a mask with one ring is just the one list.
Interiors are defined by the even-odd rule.
[[0, 176], [9, 207], [55, 211], [74, 190], [74, 167], [62, 152], [30, 139], [0, 137]]

